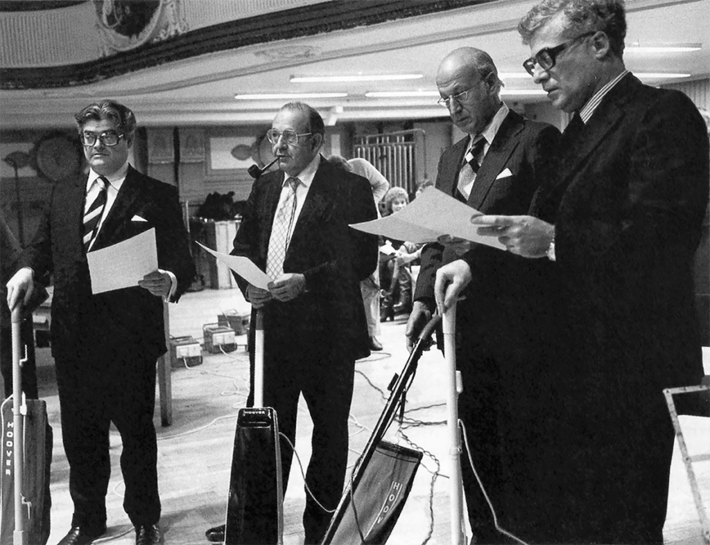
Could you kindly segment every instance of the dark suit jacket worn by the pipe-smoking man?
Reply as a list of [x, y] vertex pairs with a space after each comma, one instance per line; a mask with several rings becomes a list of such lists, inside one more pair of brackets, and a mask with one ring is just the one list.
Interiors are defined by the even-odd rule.
[[[234, 238], [231, 253], [249, 257], [262, 270], [282, 182], [280, 171], [254, 181]], [[353, 359], [369, 354], [359, 282], [374, 271], [377, 240], [348, 225], [376, 217], [369, 182], [321, 157], [283, 264], [285, 273], [305, 276], [307, 291], [285, 303], [266, 304], [265, 342], [285, 343], [295, 335]], [[246, 293], [246, 281], [236, 280]]]

